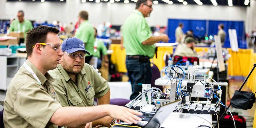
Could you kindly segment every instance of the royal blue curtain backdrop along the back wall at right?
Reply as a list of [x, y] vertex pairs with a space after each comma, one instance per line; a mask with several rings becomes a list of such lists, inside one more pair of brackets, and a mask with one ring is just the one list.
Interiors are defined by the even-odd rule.
[[168, 19], [167, 35], [170, 38], [169, 42], [175, 42], [175, 29], [179, 23], [184, 24], [183, 32], [193, 30], [194, 36], [204, 39], [205, 35], [217, 35], [218, 25], [224, 24], [226, 39], [224, 47], [230, 48], [228, 29], [236, 29], [238, 38], [238, 47], [246, 48], [245, 30], [243, 21], [217, 21], [217, 20], [188, 20], [188, 19]]

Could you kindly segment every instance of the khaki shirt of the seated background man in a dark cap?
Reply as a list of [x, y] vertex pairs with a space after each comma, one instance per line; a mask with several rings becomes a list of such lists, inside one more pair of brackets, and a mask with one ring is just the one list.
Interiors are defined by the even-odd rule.
[[197, 54], [186, 44], [182, 43], [177, 46], [173, 56], [197, 57]]

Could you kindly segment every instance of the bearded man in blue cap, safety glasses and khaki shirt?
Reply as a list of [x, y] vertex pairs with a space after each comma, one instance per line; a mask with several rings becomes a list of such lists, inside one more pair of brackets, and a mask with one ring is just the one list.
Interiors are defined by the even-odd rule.
[[[63, 41], [61, 50], [64, 52], [57, 68], [49, 71], [55, 79], [52, 85], [58, 94], [62, 106], [93, 106], [94, 97], [98, 104], [109, 104], [110, 89], [108, 82], [97, 71], [84, 62], [86, 54], [82, 40], [71, 37]], [[110, 127], [113, 119], [109, 116], [92, 121], [92, 126]]]

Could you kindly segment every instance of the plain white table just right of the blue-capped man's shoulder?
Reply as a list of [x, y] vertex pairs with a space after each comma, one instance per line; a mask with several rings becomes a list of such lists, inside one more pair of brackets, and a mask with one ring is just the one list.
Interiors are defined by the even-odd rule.
[[132, 85], [130, 82], [108, 82], [110, 87], [110, 99], [130, 100], [132, 94]]

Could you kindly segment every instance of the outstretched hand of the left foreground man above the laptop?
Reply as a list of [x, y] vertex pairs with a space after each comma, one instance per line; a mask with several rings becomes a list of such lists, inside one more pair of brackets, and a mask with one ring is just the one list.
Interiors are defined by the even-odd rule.
[[[142, 115], [141, 112], [128, 109], [122, 106], [113, 105], [111, 109], [109, 109], [109, 116], [115, 119], [123, 120], [126, 123], [134, 123], [137, 124], [137, 121], [141, 121], [136, 115]], [[137, 121], [136, 121], [137, 120]]]

